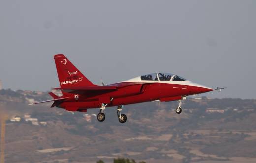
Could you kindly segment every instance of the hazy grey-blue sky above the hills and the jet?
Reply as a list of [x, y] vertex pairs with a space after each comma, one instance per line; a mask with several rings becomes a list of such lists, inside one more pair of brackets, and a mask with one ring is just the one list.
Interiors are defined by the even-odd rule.
[[256, 0], [0, 0], [4, 88], [59, 87], [60, 53], [96, 84], [163, 71], [256, 98]]

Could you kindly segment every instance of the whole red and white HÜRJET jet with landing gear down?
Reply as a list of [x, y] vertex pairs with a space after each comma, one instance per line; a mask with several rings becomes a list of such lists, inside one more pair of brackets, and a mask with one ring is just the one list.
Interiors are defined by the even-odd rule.
[[51, 107], [80, 112], [87, 112], [89, 108], [100, 108], [97, 115], [100, 122], [105, 120], [106, 107], [117, 106], [118, 120], [125, 123], [127, 117], [121, 114], [124, 105], [178, 100], [175, 111], [180, 114], [181, 100], [186, 96], [224, 89], [212, 89], [170, 73], [147, 74], [107, 86], [98, 86], [89, 81], [63, 54], [55, 55], [54, 60], [60, 82], [60, 88], [54, 89], [61, 90], [63, 95], [59, 97], [50, 92], [52, 100], [32, 104], [54, 101]]

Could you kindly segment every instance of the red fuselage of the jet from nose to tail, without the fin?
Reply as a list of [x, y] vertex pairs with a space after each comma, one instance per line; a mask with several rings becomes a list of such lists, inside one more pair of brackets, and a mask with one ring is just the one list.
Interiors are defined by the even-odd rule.
[[[183, 96], [205, 93], [213, 89], [207, 87], [180, 85], [171, 83], [145, 83], [145, 82], [121, 82], [109, 86], [117, 86], [117, 90], [111, 91], [88, 91], [84, 94], [77, 94], [79, 98], [75, 100], [75, 93], [67, 93], [64, 96], [70, 97], [58, 107], [61, 108], [99, 108], [102, 103], [110, 106], [128, 105], [147, 101], [173, 101], [180, 100]], [[111, 102], [111, 98], [113, 101]]]

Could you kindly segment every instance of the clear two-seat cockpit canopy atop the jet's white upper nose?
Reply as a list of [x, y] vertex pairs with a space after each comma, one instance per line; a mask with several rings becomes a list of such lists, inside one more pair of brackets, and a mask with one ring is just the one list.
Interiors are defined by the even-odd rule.
[[153, 73], [140, 76], [143, 81], [186, 81], [186, 79], [170, 73]]

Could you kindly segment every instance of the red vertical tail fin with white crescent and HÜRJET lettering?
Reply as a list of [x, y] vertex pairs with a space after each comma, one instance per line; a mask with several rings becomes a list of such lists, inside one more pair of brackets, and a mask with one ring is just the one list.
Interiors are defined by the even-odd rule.
[[94, 86], [63, 54], [54, 55], [61, 88]]

